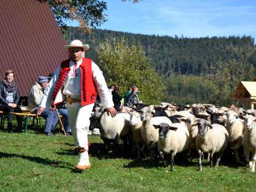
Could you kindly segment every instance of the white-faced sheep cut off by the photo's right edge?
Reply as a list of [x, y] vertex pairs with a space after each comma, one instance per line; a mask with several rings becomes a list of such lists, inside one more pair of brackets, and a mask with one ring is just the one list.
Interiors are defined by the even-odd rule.
[[[243, 116], [245, 131], [243, 134], [244, 155], [249, 163], [250, 171], [255, 171], [256, 162], [256, 118], [253, 115]], [[250, 159], [251, 153], [251, 159]]]

